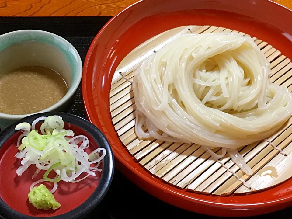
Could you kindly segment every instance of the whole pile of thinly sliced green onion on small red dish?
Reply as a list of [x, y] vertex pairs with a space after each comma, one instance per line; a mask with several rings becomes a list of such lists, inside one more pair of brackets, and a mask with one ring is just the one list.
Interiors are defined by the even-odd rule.
[[[40, 127], [40, 134], [35, 130], [35, 125], [43, 119], [45, 121]], [[74, 137], [75, 133], [72, 130], [63, 129], [64, 121], [60, 116], [40, 117], [34, 120], [31, 131], [28, 123], [19, 124], [16, 128], [28, 130], [21, 134], [17, 140], [17, 148], [20, 151], [15, 156], [16, 158], [23, 159], [23, 165], [19, 166], [16, 170], [18, 176], [21, 176], [31, 165], [30, 163], [32, 163], [38, 167], [33, 177], [41, 169], [47, 169], [43, 175], [43, 180], [54, 182], [55, 188], [57, 182], [61, 180], [65, 182], [79, 182], [89, 175], [96, 176], [95, 171], [101, 171], [95, 167], [90, 167], [92, 162], [98, 161], [99, 164], [100, 161], [97, 159], [102, 158], [99, 158], [98, 153], [89, 155], [84, 151], [89, 147], [88, 138], [84, 135]], [[68, 139], [66, 136], [73, 138]], [[75, 141], [75, 139], [78, 140]], [[79, 142], [82, 142], [80, 146], [78, 146]], [[53, 179], [50, 179], [48, 175], [52, 170], [57, 174]], [[70, 176], [67, 175], [67, 171], [70, 172]], [[87, 172], [88, 175], [75, 180], [83, 172]]]

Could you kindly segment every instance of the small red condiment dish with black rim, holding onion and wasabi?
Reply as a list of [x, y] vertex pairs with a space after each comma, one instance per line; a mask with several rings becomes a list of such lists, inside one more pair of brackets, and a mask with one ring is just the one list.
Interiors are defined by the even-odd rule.
[[[65, 122], [65, 129], [71, 129], [76, 135], [88, 137], [91, 152], [98, 147], [106, 149], [106, 156], [100, 164], [102, 172], [97, 172], [97, 176], [89, 176], [78, 183], [58, 182], [57, 191], [54, 193], [55, 199], [61, 203], [57, 210], [38, 210], [29, 203], [27, 195], [30, 192], [30, 185], [42, 179], [45, 171], [32, 179], [36, 171], [35, 165], [31, 165], [21, 176], [16, 174], [16, 169], [20, 166], [20, 159], [14, 157], [18, 152], [16, 143], [21, 131], [15, 131], [16, 124], [21, 122], [32, 123], [40, 116], [59, 115]], [[37, 123], [36, 129], [42, 122]], [[113, 154], [109, 143], [104, 135], [90, 122], [78, 116], [68, 113], [41, 113], [28, 116], [12, 124], [0, 133], [0, 216], [4, 218], [54, 218], [73, 219], [81, 218], [89, 214], [96, 205], [103, 199], [108, 190], [113, 177]], [[85, 173], [83, 173], [85, 174]], [[53, 177], [50, 176], [49, 177]], [[82, 176], [81, 176], [82, 177]], [[52, 182], [43, 182], [50, 190], [53, 188]]]

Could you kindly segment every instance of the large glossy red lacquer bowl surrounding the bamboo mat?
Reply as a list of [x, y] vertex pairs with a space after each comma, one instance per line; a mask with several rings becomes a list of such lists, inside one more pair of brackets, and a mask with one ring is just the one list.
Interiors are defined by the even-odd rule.
[[153, 196], [203, 214], [249, 216], [291, 205], [292, 179], [266, 191], [222, 197], [191, 193], [158, 180], [123, 147], [109, 113], [109, 90], [116, 67], [131, 50], [158, 33], [183, 25], [223, 26], [264, 40], [292, 58], [291, 19], [289, 9], [268, 0], [143, 0], [111, 19], [87, 54], [82, 92], [87, 115], [109, 140], [116, 166]]

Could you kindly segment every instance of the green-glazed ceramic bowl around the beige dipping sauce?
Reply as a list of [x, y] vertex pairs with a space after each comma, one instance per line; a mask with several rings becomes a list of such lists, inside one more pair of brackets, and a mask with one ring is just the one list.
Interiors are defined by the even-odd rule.
[[[0, 77], [5, 72], [31, 65], [57, 71], [69, 88], [59, 102], [36, 113], [68, 110], [82, 78], [82, 61], [77, 50], [62, 37], [41, 30], [19, 30], [0, 36]], [[32, 114], [0, 113], [0, 128]]]

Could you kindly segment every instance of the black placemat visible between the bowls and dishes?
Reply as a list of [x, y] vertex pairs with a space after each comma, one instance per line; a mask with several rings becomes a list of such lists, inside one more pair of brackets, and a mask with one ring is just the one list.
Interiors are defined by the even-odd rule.
[[[98, 31], [110, 17], [0, 17], [0, 34], [14, 30], [45, 30], [64, 37], [79, 52], [84, 62], [87, 50]], [[69, 113], [86, 118], [81, 85], [76, 92]], [[1, 180], [1, 179], [0, 179]], [[68, 200], [70, 201], [70, 200]], [[250, 218], [290, 217], [292, 207]], [[230, 215], [230, 217], [235, 215]], [[136, 219], [136, 218], [219, 218], [196, 214], [173, 207], [145, 193], [130, 182], [117, 169], [112, 185], [104, 200], [86, 218]], [[65, 219], [65, 218], [64, 218]]]

